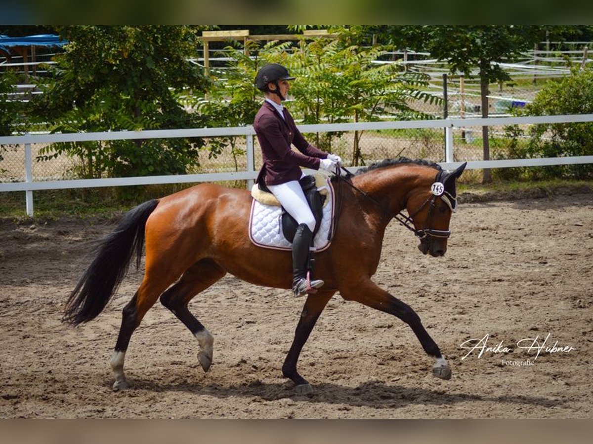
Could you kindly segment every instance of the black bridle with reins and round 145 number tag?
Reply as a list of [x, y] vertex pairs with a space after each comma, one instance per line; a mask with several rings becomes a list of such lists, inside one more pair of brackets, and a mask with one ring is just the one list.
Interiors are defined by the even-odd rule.
[[[379, 207], [380, 210], [383, 211], [385, 214], [397, 220], [408, 230], [413, 231], [413, 233], [420, 240], [426, 239], [427, 237], [434, 237], [436, 239], [448, 239], [448, 237], [451, 236], [451, 230], [435, 230], [431, 228], [426, 228], [429, 225], [429, 222], [431, 221], [433, 210], [436, 207], [437, 197], [441, 198], [441, 200], [445, 202], [445, 204], [447, 204], [452, 213], [455, 213], [455, 211], [457, 210], [457, 197], [453, 197], [449, 192], [445, 191], [445, 186], [441, 182], [442, 174], [444, 173], [443, 170], [439, 170], [439, 172], [436, 173], [435, 181], [431, 185], [431, 197], [427, 198], [424, 201], [424, 203], [420, 205], [420, 207], [414, 212], [414, 214], [408, 216], [403, 214], [401, 211], [397, 214], [392, 213], [387, 207], [385, 207], [385, 205], [381, 204], [381, 202], [366, 194], [364, 191], [362, 191], [362, 189], [352, 184], [352, 182], [343, 178], [343, 176], [340, 174], [340, 168], [343, 169], [349, 176], [353, 176], [353, 174], [343, 166], [336, 167], [336, 176], [338, 180], [341, 180], [348, 184], [350, 187], [362, 194], [367, 200], [377, 205], [377, 207]], [[425, 227], [421, 230], [418, 230], [414, 226], [414, 217], [416, 217], [416, 215], [419, 214], [420, 211], [422, 211], [422, 208], [426, 207], [426, 205], [429, 205], [429, 208], [428, 215], [426, 217]]]

